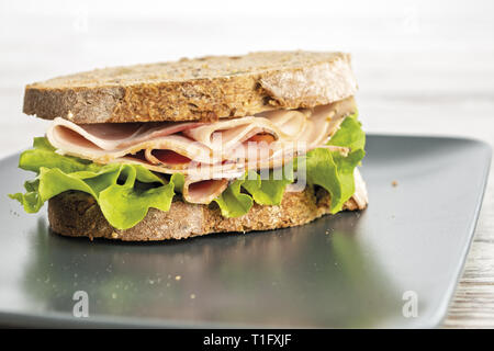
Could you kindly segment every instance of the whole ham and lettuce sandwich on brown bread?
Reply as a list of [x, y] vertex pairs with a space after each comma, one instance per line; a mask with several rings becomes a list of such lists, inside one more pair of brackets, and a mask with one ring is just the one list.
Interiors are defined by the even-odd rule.
[[52, 120], [11, 194], [64, 236], [268, 230], [363, 210], [366, 135], [344, 53], [263, 52], [96, 69], [25, 88]]

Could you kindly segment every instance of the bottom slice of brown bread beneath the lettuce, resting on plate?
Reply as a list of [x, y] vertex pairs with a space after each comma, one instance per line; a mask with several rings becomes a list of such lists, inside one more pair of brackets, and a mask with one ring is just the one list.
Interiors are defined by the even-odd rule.
[[[177, 199], [177, 197], [176, 197]], [[364, 206], [363, 206], [364, 207]], [[344, 210], [359, 208], [350, 199]], [[172, 202], [168, 212], [150, 208], [136, 226], [119, 230], [104, 218], [94, 199], [83, 192], [64, 192], [48, 201], [52, 230], [71, 237], [106, 238], [123, 241], [186, 239], [211, 233], [269, 230], [304, 225], [329, 213], [329, 195], [307, 186], [303, 192], [287, 192], [279, 206], [255, 204], [249, 213], [225, 218], [211, 205]]]

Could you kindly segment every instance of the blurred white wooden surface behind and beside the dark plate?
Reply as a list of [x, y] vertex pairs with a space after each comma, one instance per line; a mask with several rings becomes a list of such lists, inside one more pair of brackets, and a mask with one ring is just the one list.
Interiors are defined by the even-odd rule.
[[[465, 136], [494, 146], [492, 1], [256, 1], [242, 9], [210, 1], [1, 2], [0, 157], [46, 128], [21, 113], [25, 83], [110, 65], [296, 48], [353, 54], [368, 132]], [[444, 326], [494, 328], [493, 171]]]

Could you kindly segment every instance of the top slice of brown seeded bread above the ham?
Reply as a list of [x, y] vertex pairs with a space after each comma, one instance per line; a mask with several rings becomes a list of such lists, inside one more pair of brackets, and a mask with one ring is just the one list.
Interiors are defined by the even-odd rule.
[[25, 88], [26, 114], [77, 124], [204, 121], [351, 97], [344, 53], [262, 52], [96, 69]]

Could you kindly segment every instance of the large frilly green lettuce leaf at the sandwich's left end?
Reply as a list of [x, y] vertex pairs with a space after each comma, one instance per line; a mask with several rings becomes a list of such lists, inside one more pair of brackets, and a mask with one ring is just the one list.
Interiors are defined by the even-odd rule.
[[176, 185], [183, 186], [181, 174], [166, 182], [139, 165], [103, 166], [58, 155], [45, 138], [35, 138], [33, 149], [21, 155], [19, 167], [37, 173], [35, 180], [24, 183], [24, 194], [10, 195], [25, 212], [35, 213], [49, 199], [77, 190], [92, 195], [108, 222], [119, 229], [135, 226], [149, 207], [168, 211]]

